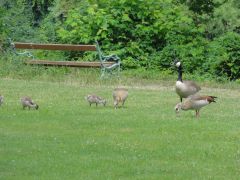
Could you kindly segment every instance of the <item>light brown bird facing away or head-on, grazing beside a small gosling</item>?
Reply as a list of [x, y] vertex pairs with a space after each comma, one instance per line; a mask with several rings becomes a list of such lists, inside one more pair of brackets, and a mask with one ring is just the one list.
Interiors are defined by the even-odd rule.
[[125, 88], [115, 88], [113, 90], [113, 100], [115, 109], [118, 108], [118, 104], [122, 102], [122, 107], [128, 97], [128, 90]]

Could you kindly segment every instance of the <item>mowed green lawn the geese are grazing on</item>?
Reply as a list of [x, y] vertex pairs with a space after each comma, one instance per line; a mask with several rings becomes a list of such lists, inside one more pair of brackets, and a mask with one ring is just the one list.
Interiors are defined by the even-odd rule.
[[[128, 87], [116, 110], [114, 87], [1, 79], [0, 179], [239, 179], [239, 90], [202, 87], [218, 99], [196, 119], [176, 117], [174, 84]], [[22, 109], [26, 95], [38, 111]]]

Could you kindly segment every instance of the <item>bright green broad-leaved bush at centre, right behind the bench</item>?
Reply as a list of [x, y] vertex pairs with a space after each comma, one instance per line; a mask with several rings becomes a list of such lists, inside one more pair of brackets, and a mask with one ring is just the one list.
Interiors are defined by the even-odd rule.
[[124, 68], [169, 67], [173, 57], [157, 60], [159, 51], [172, 44], [184, 46], [202, 33], [201, 27], [194, 27], [190, 12], [171, 1], [82, 3], [69, 11], [58, 30], [60, 39], [86, 44], [98, 40], [104, 51], [120, 55]]

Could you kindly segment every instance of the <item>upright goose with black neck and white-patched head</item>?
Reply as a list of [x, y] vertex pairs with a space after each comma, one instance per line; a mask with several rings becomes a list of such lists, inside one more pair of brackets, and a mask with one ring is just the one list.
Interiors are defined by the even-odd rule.
[[178, 68], [178, 79], [176, 82], [176, 93], [180, 97], [182, 102], [183, 98], [187, 98], [190, 95], [196, 94], [201, 88], [193, 81], [183, 81], [182, 80], [182, 64], [179, 60], [175, 60], [175, 66]]

